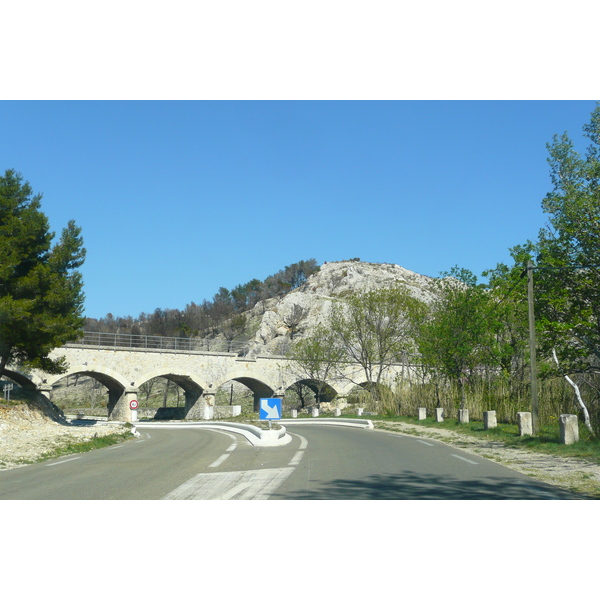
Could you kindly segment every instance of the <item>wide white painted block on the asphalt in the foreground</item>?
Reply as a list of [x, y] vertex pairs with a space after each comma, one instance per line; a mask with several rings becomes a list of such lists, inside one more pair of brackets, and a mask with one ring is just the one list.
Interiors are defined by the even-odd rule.
[[198, 473], [163, 500], [267, 500], [294, 469]]

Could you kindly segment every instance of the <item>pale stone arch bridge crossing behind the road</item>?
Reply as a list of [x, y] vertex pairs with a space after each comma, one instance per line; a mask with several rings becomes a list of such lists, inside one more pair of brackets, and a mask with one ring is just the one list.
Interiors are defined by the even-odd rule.
[[[317, 382], [302, 377], [285, 356], [251, 356], [231, 347], [229, 351], [215, 351], [166, 342], [176, 338], [153, 337], [149, 343], [144, 336], [144, 343], [131, 343], [129, 339], [127, 344], [123, 337], [113, 343], [116, 336], [112, 334], [103, 339], [86, 335], [79, 342], [53, 350], [50, 356], [64, 357], [67, 364], [67, 371], [61, 375], [33, 371], [25, 376], [11, 370], [5, 374], [49, 400], [54, 384], [62, 378], [76, 374], [93, 377], [108, 388], [109, 418], [120, 421], [132, 420], [130, 402], [138, 399], [140, 386], [155, 377], [169, 379], [183, 389], [185, 418], [190, 420], [213, 418], [216, 392], [228, 381], [238, 381], [252, 391], [255, 410], [260, 398], [283, 397], [286, 389], [298, 382], [317, 391]], [[406, 364], [394, 365], [383, 383], [392, 387], [398, 378], [409, 377], [409, 370]], [[361, 371], [359, 365], [347, 365], [339, 376], [324, 382], [326, 391], [321, 400], [343, 399], [357, 384], [368, 385]]]

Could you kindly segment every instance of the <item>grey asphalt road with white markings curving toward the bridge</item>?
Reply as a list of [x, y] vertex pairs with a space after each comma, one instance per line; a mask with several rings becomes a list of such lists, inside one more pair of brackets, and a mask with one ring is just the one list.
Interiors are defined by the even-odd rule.
[[109, 448], [0, 472], [13, 500], [498, 500], [574, 496], [441, 442], [289, 425], [258, 448], [207, 429], [143, 429]]

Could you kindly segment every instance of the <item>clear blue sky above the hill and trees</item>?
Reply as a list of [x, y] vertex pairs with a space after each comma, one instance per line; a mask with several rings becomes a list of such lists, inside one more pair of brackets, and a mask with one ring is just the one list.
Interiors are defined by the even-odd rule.
[[0, 168], [83, 229], [86, 315], [293, 262], [480, 275], [546, 222], [546, 144], [591, 101], [2, 101]]

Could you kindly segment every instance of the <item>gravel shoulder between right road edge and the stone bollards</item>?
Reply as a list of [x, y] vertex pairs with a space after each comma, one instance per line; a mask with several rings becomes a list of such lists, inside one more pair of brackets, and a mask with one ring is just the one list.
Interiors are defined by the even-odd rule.
[[508, 448], [502, 442], [484, 440], [446, 429], [373, 420], [376, 429], [436, 439], [454, 448], [501, 463], [519, 473], [578, 494], [600, 499], [600, 465], [575, 458]]

